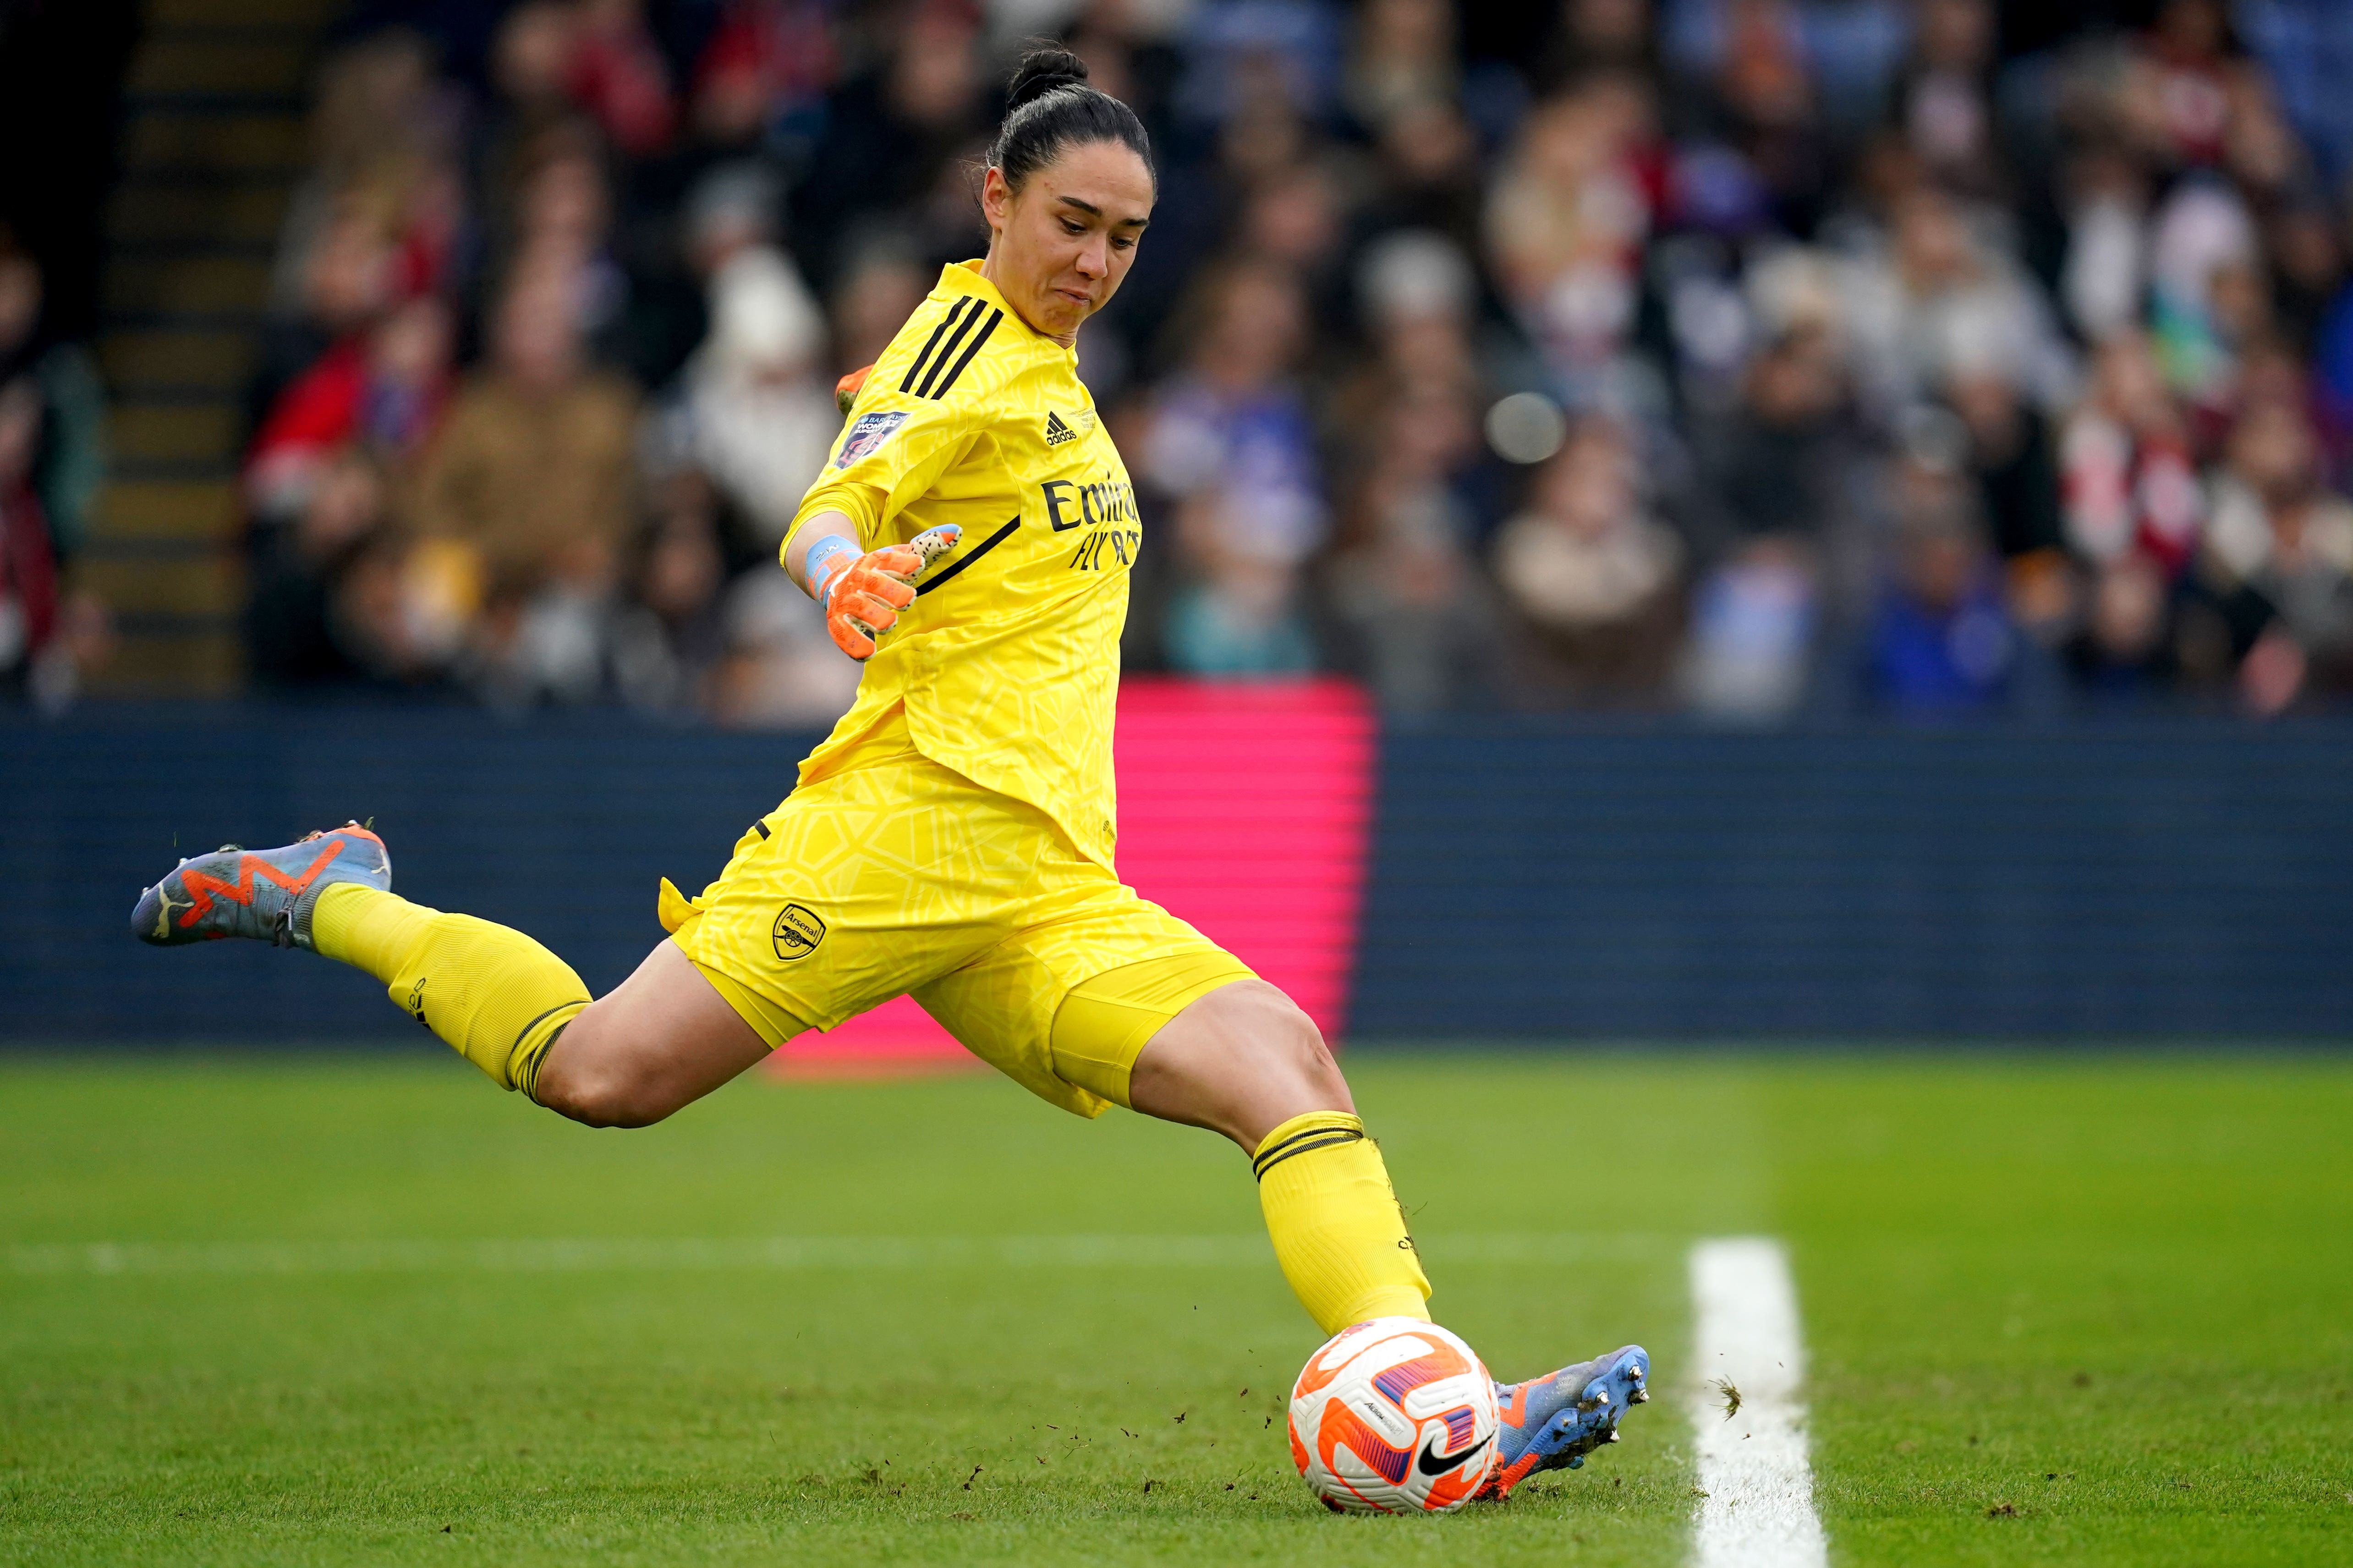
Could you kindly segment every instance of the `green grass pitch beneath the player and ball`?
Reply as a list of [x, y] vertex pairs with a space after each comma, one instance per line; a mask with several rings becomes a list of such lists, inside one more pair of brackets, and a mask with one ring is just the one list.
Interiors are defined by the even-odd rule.
[[593, 1133], [454, 1060], [0, 1063], [0, 1561], [1680, 1563], [1711, 1234], [1788, 1244], [1835, 1563], [2353, 1561], [2346, 1058], [1351, 1077], [1501, 1375], [1657, 1356], [1584, 1472], [1327, 1516], [1242, 1157], [991, 1077]]

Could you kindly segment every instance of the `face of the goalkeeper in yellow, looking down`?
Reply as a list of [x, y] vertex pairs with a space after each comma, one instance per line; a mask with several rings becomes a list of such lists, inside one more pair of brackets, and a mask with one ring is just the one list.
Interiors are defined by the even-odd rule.
[[1153, 216], [1153, 176], [1132, 148], [1082, 141], [1019, 190], [991, 169], [981, 209], [991, 228], [991, 282], [1021, 320], [1068, 343], [1120, 292]]

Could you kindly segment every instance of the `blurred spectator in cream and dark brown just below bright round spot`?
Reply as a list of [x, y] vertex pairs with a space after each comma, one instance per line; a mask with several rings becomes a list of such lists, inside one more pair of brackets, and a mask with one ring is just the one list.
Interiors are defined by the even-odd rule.
[[1626, 435], [1581, 423], [1497, 536], [1497, 581], [1527, 623], [1513, 698], [1532, 708], [1657, 698], [1682, 630], [1682, 541], [1642, 508]]

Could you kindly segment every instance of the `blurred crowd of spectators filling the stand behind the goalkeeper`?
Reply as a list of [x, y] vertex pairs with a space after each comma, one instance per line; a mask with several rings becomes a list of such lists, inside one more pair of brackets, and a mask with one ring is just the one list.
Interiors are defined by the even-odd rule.
[[1497, 56], [1461, 5], [384, 12], [252, 388], [254, 679], [838, 715], [776, 543], [835, 376], [986, 247], [1049, 33], [1160, 165], [1080, 339], [1129, 670], [1746, 722], [2353, 691], [2353, 7], [2014, 52], [1988, 0], [1560, 0]]

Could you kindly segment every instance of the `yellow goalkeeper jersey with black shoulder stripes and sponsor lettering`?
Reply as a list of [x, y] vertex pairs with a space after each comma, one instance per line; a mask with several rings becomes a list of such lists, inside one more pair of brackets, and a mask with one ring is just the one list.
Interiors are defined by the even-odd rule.
[[965, 531], [800, 780], [840, 771], [904, 705], [925, 757], [1038, 806], [1108, 867], [1111, 717], [1144, 524], [1078, 353], [1031, 331], [979, 268], [941, 268], [800, 501], [795, 527], [838, 510], [866, 550]]

